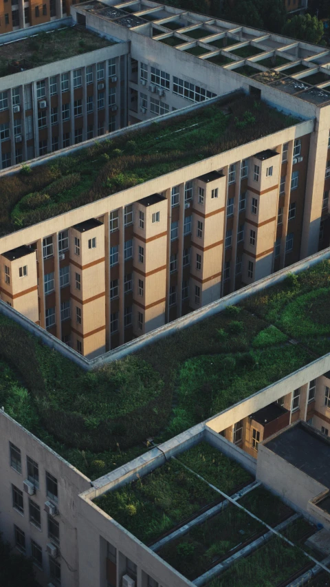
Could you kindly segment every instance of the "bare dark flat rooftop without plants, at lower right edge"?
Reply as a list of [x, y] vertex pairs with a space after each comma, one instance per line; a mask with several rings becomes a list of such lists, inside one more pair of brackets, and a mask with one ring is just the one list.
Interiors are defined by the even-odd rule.
[[330, 489], [330, 438], [300, 422], [280, 432], [266, 446]]

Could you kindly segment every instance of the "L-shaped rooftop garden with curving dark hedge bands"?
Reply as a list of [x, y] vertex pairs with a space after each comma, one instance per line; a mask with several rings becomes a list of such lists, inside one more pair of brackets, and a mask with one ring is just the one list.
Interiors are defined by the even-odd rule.
[[0, 315], [0, 405], [97, 478], [329, 352], [329, 298], [325, 261], [89, 374]]

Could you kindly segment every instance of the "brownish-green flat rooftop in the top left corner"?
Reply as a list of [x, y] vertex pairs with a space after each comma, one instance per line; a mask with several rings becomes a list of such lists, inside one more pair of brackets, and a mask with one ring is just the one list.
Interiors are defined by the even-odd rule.
[[114, 44], [79, 25], [40, 32], [0, 45], [0, 77]]

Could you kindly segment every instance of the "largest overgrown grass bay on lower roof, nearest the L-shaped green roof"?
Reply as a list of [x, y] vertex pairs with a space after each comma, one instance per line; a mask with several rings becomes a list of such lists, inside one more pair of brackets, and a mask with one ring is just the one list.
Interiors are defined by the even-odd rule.
[[208, 484], [184, 469], [179, 461], [170, 460], [145, 477], [102, 495], [95, 503], [148, 544], [219, 500], [219, 493]]

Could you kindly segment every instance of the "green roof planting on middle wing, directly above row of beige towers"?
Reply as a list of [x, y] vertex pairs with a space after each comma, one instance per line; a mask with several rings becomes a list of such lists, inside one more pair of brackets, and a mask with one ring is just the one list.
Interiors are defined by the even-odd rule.
[[[228, 111], [228, 105], [226, 107]], [[72, 156], [0, 177], [0, 235], [31, 226], [107, 195], [142, 184], [216, 153], [296, 124], [260, 100], [241, 96], [143, 131], [94, 142]], [[177, 131], [180, 130], [179, 134]]]

